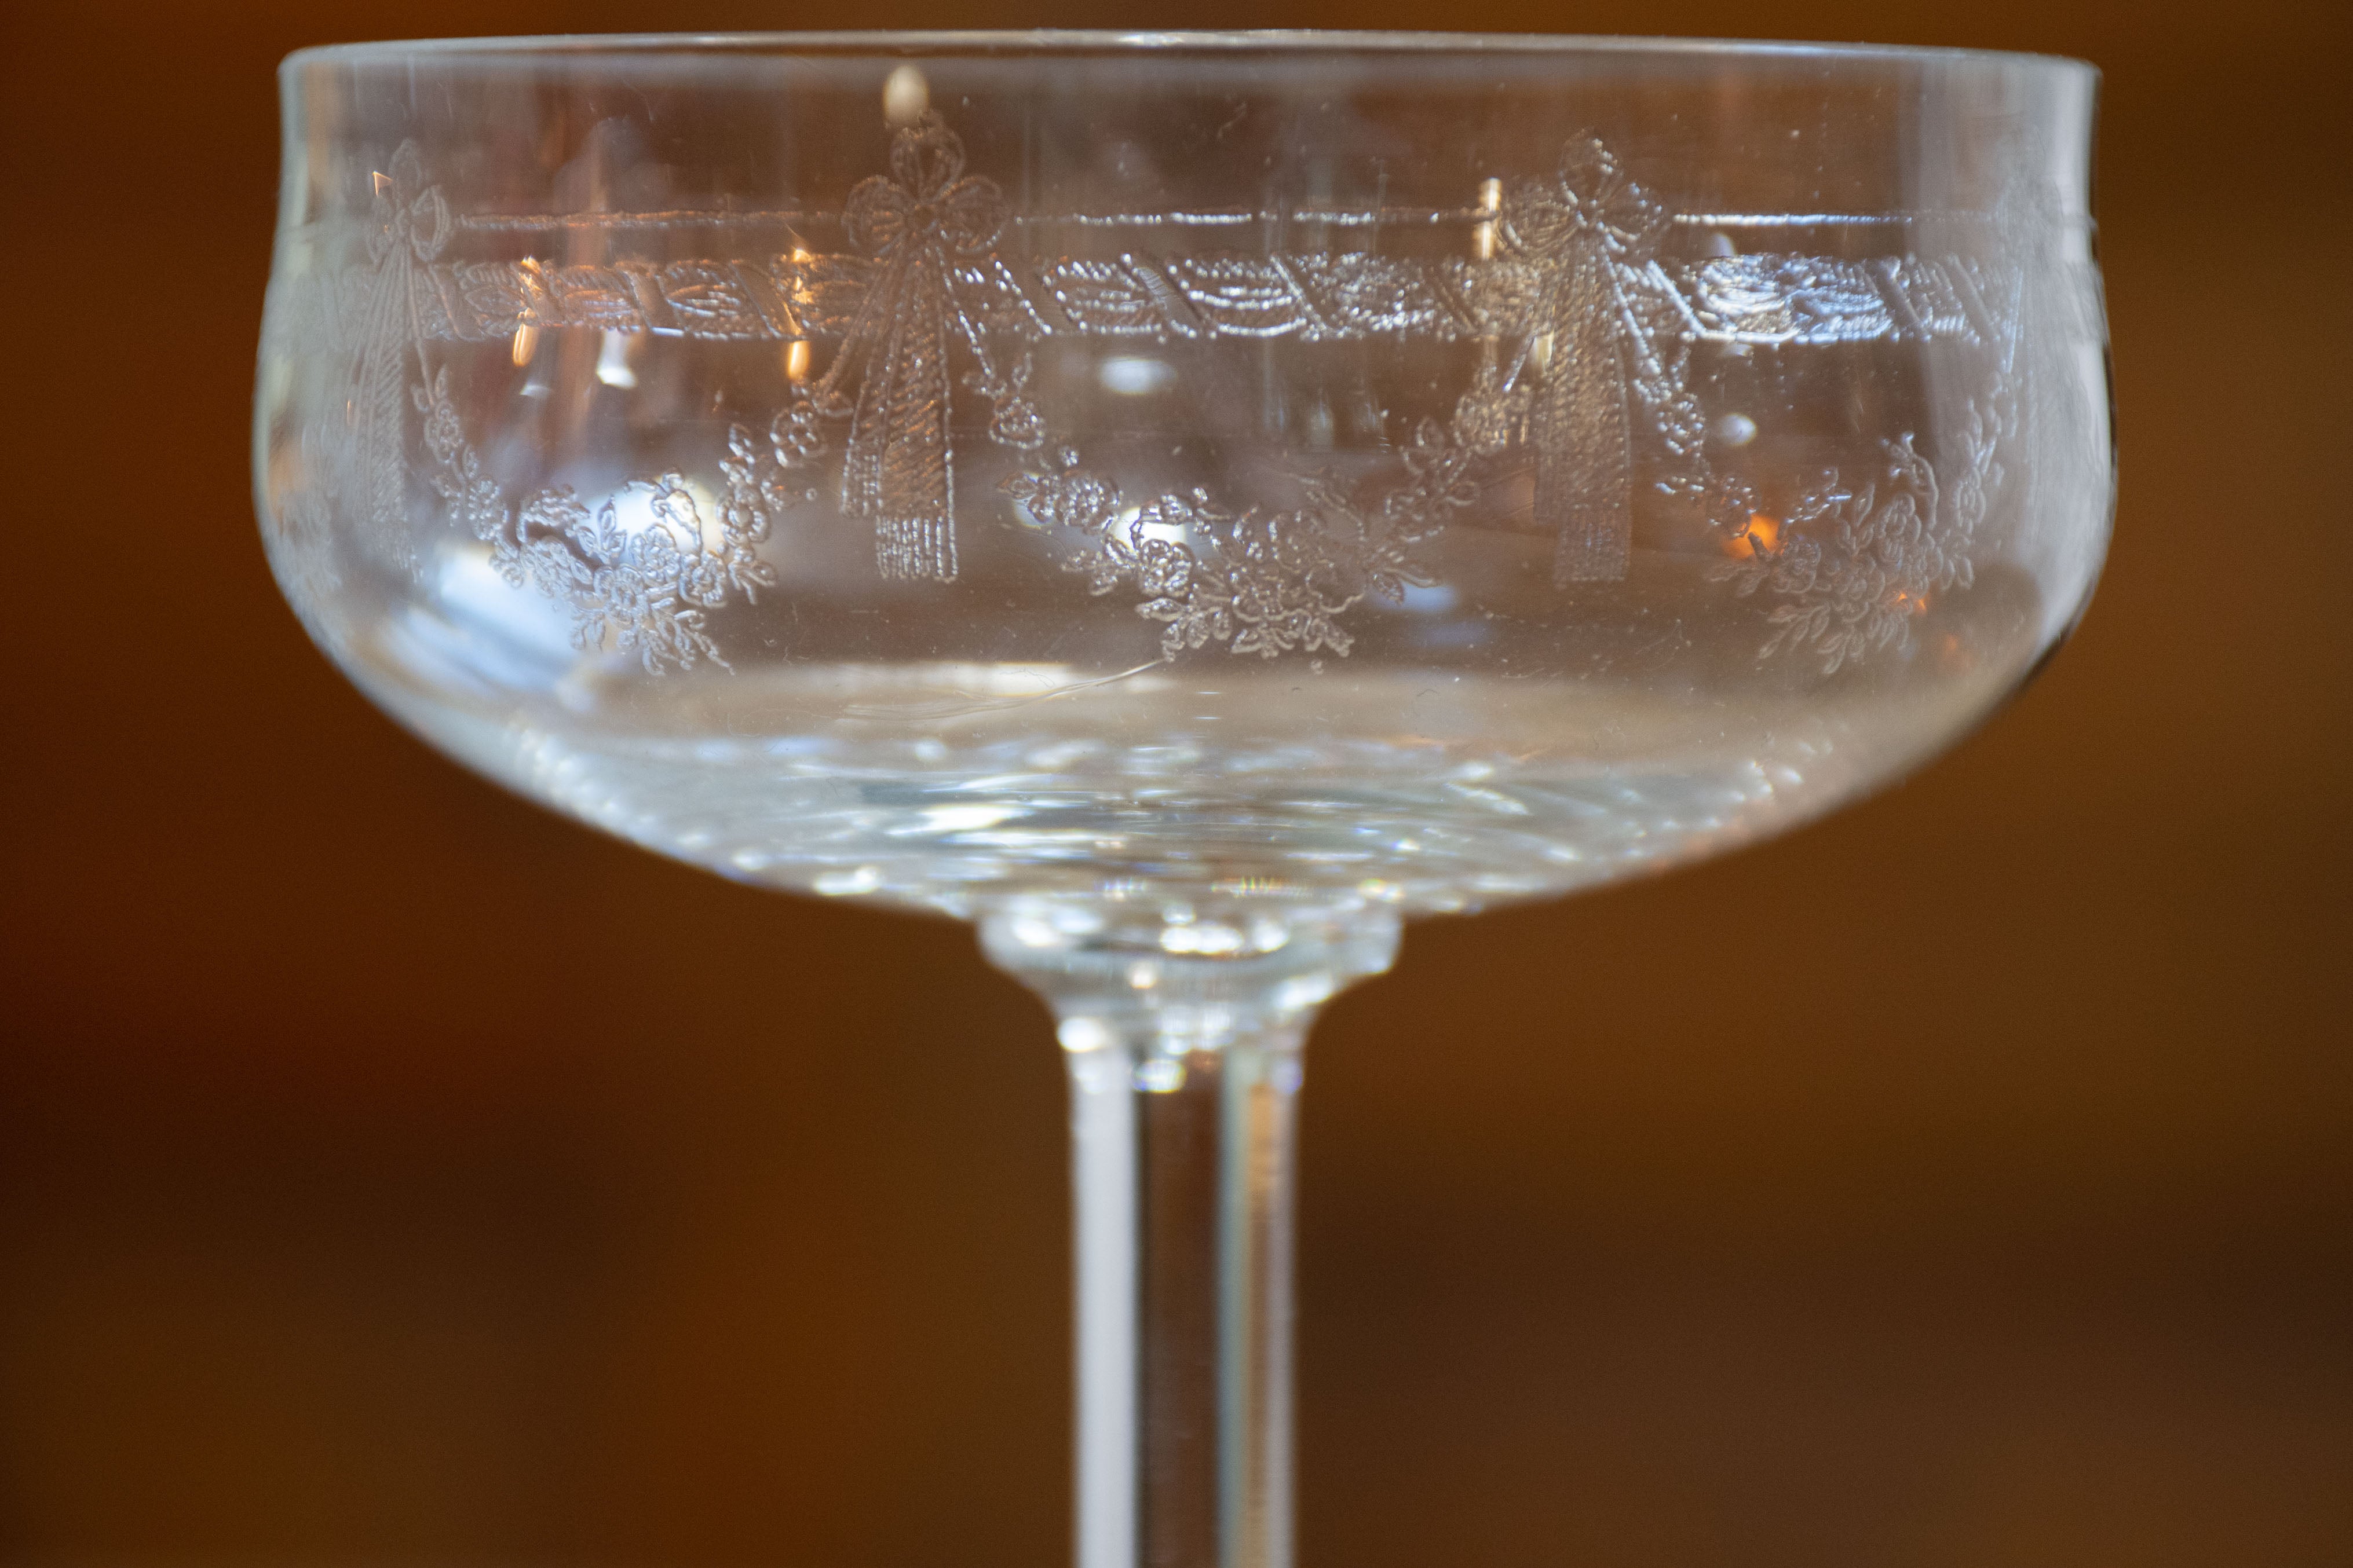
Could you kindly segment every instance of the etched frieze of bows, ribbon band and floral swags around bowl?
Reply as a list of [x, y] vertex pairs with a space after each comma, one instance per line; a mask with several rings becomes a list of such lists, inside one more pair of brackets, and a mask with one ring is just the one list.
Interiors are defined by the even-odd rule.
[[[774, 585], [760, 548], [791, 508], [821, 496], [828, 463], [840, 512], [875, 529], [882, 576], [958, 576], [951, 404], [962, 386], [988, 402], [991, 442], [1021, 454], [1005, 491], [1075, 545], [1066, 567], [1092, 592], [1125, 585], [1136, 595], [1136, 614], [1162, 628], [1165, 658], [1207, 646], [1259, 658], [1348, 654], [1348, 611], [1428, 585], [1424, 545], [1480, 498], [1482, 463], [1513, 449], [1534, 470], [1527, 505], [1555, 538], [1558, 585], [1626, 576], [1638, 461], [1654, 491], [1713, 510], [1741, 555], [1713, 574], [1737, 597], [1774, 599], [1760, 656], [1807, 649], [1835, 672], [1904, 644], [1929, 595], [1969, 583], [1969, 550], [2000, 487], [1995, 449], [2017, 423], [2000, 388], [1972, 407], [1958, 449], [1944, 454], [1948, 473], [1904, 437], [1868, 482], [1824, 475], [1767, 534], [1748, 524], [1746, 482], [1711, 468], [1708, 416], [1689, 386], [1701, 341], [1734, 353], [1906, 331], [1993, 341], [1998, 322], [1965, 263], [1755, 254], [1664, 266], [1675, 214], [1591, 136], [1572, 139], [1548, 179], [1497, 179], [1487, 190], [1475, 209], [1485, 240], [1475, 256], [1452, 261], [1372, 252], [1007, 259], [998, 249], [1012, 221], [1002, 188], [967, 172], [958, 134], [925, 113], [894, 132], [889, 174], [854, 186], [840, 212], [856, 256], [793, 252], [784, 273], [755, 287], [741, 263], [626, 263], [635, 268], [626, 277], [612, 266], [452, 263], [464, 223], [414, 146], [402, 146], [374, 176], [365, 268], [332, 289], [341, 327], [329, 336], [351, 350], [353, 416], [315, 465], [322, 489], [289, 496], [289, 520], [311, 517], [301, 508], [358, 508], [379, 524], [374, 534], [409, 538], [407, 421], [421, 414], [426, 489], [489, 548], [508, 583], [567, 609], [576, 646], [631, 656], [647, 672], [725, 665], [713, 611]], [[769, 287], [791, 301], [774, 322], [755, 303]], [[520, 303], [473, 303], [501, 292]], [[508, 315], [499, 329], [518, 341], [541, 322], [642, 331], [659, 315], [685, 336], [765, 331], [805, 346], [821, 329], [835, 350], [765, 440], [729, 425], [722, 496], [659, 473], [602, 501], [567, 487], [511, 498], [471, 444], [449, 369], [431, 348], [487, 339], [480, 322]], [[1388, 482], [1299, 475], [1299, 501], [1282, 510], [1231, 510], [1200, 489], [1125, 503], [1118, 482], [1049, 428], [1026, 350], [1096, 331], [1160, 343], [1471, 336], [1478, 364], [1454, 416], [1424, 421]], [[2005, 331], [2002, 343], [2014, 322]], [[835, 423], [847, 425], [840, 440], [828, 430]], [[1664, 461], [1640, 458], [1638, 440], [1652, 437], [1638, 425], [1654, 433]]]

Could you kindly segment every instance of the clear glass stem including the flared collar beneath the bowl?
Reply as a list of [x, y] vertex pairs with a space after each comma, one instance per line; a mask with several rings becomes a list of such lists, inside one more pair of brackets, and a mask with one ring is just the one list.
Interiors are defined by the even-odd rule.
[[984, 943], [1071, 1070], [1078, 1568], [1289, 1568], [1301, 1041], [1398, 924], [1026, 905]]

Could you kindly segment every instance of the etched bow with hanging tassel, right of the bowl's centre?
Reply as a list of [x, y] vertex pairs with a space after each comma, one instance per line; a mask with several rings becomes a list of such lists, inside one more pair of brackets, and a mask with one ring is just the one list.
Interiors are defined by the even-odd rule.
[[1626, 576], [1631, 327], [1619, 270], [1645, 261], [1664, 230], [1666, 209], [1591, 136], [1562, 150], [1551, 183], [1518, 186], [1497, 223], [1508, 252], [1544, 263], [1527, 355], [1541, 386], [1527, 409], [1527, 440], [1537, 449], [1537, 520], [1560, 536], [1553, 581], [1562, 585]]

